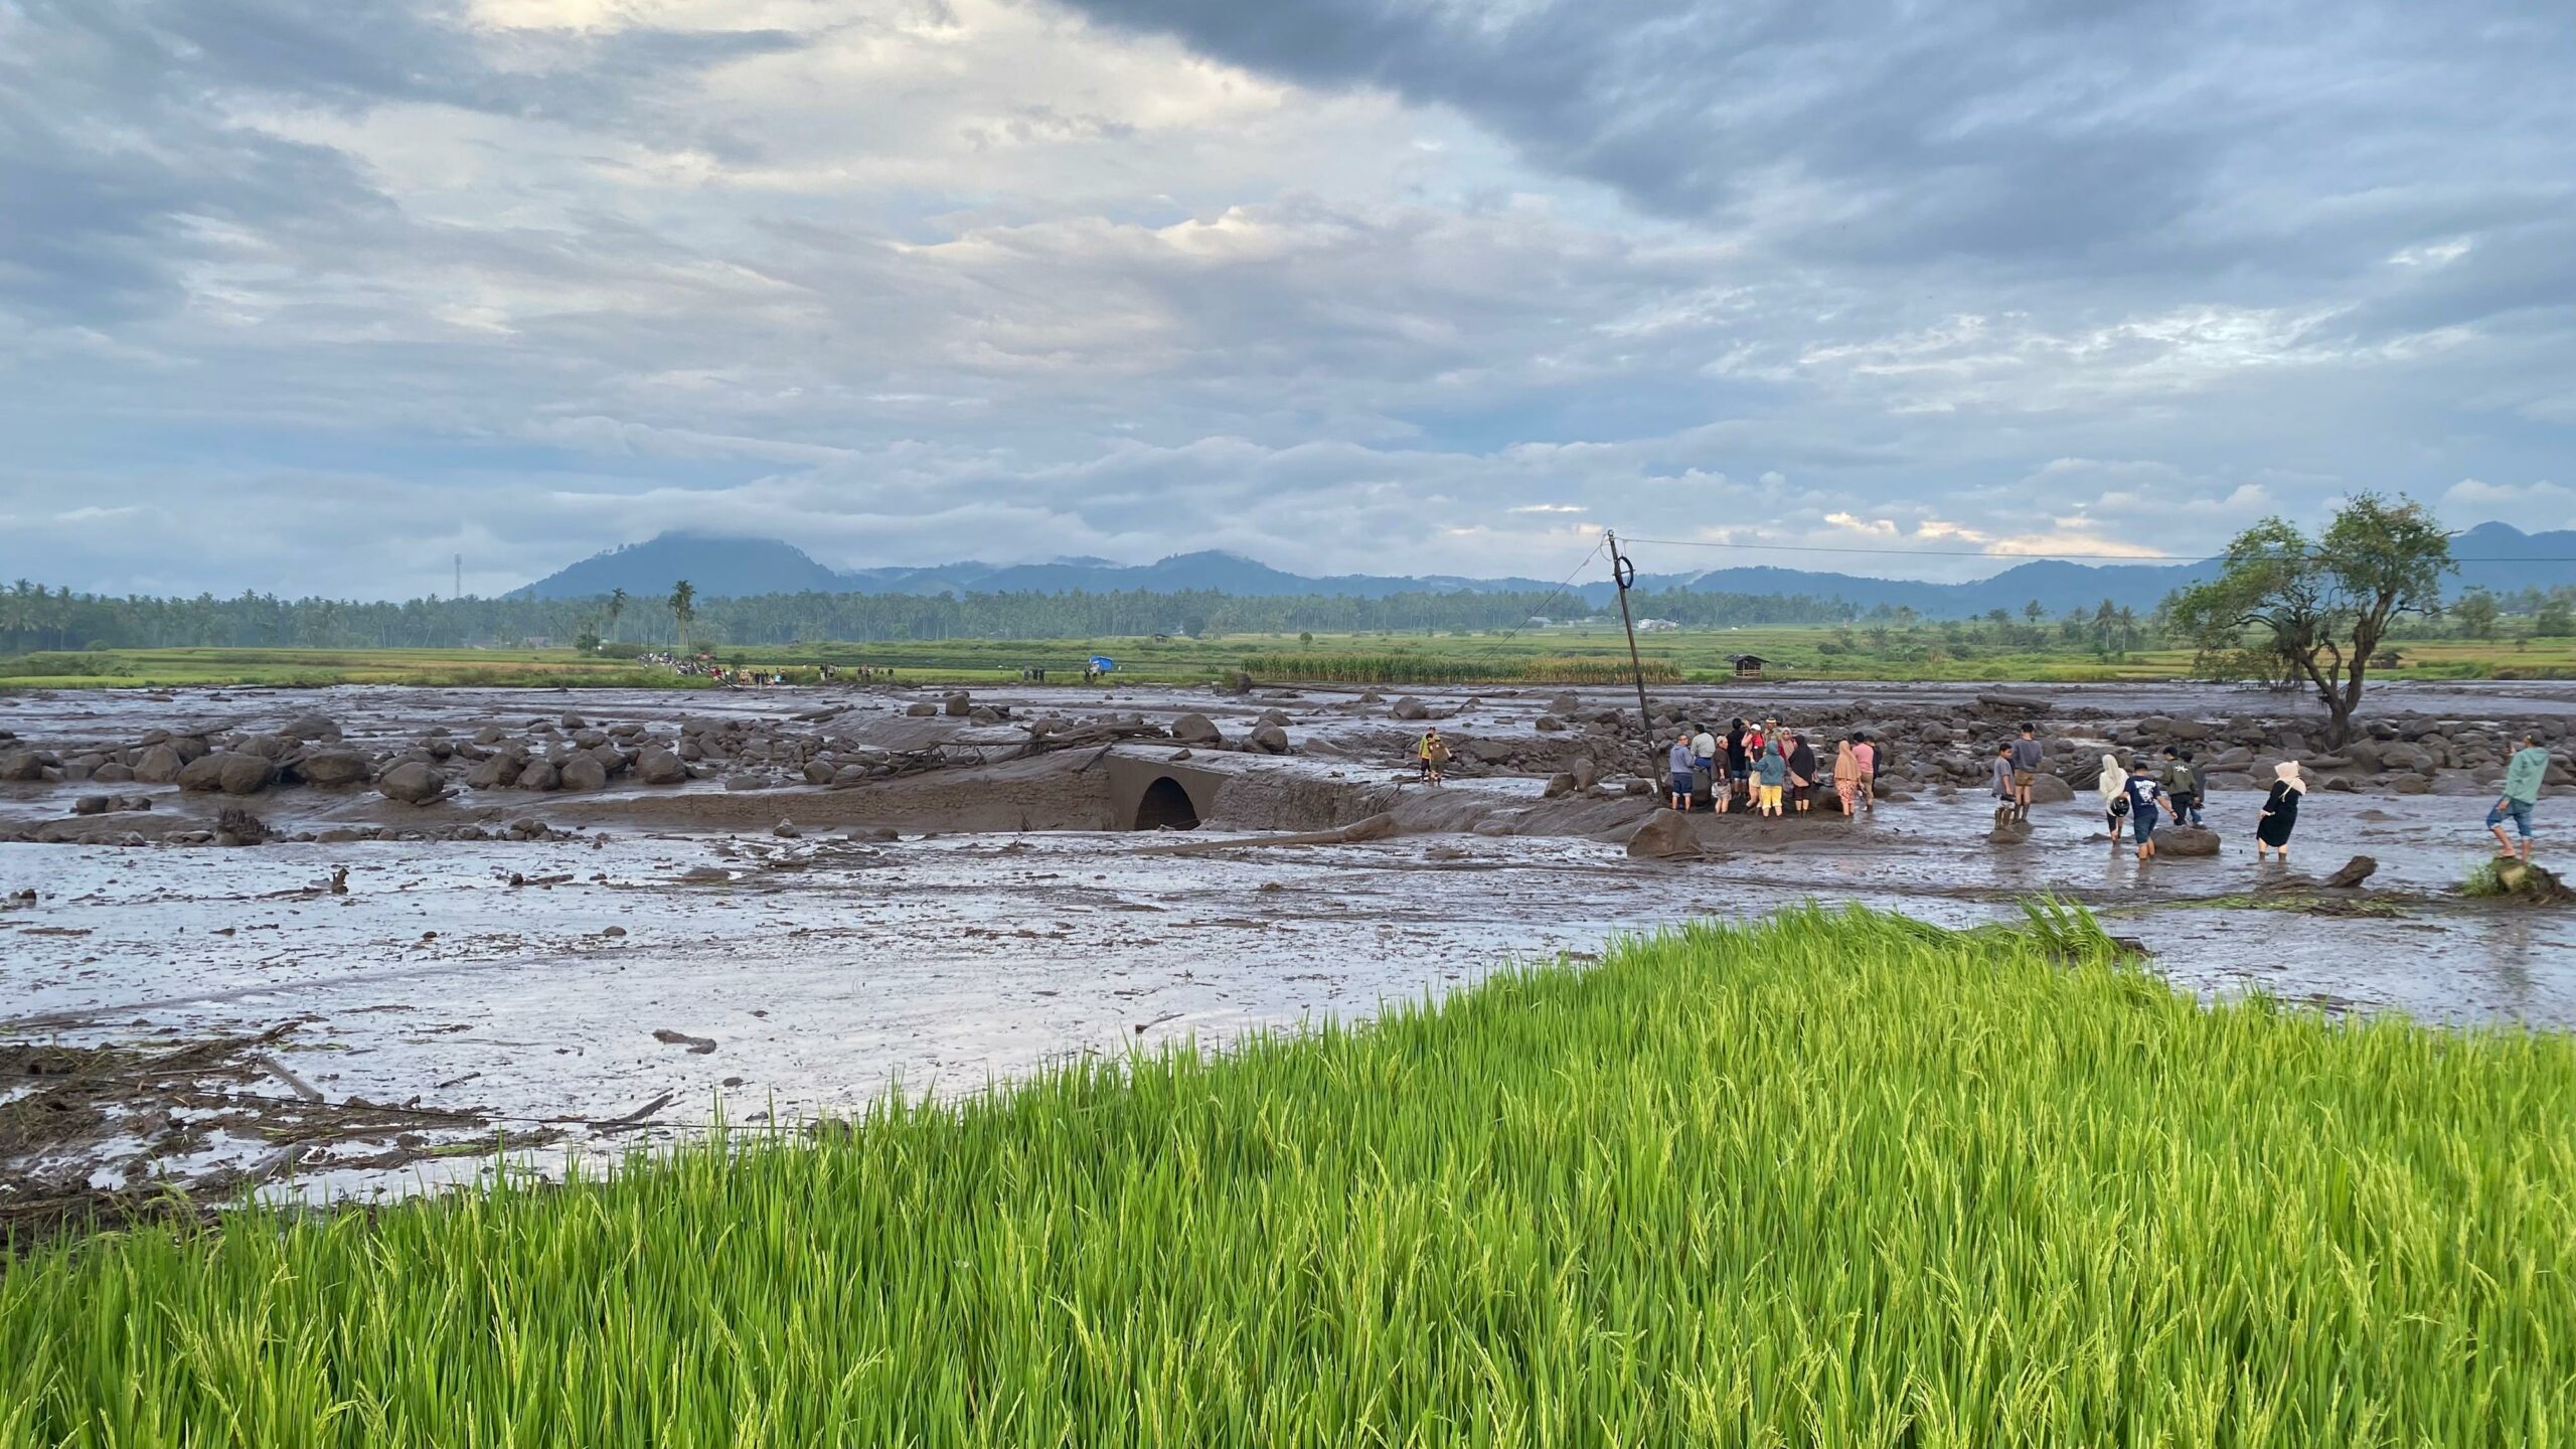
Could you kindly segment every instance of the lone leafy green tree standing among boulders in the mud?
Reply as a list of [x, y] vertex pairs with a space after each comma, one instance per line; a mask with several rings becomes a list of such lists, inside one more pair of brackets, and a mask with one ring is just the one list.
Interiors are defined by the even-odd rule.
[[2251, 632], [2324, 701], [2329, 737], [2352, 737], [2370, 657], [2388, 624], [2432, 614], [2452, 570], [2450, 534], [2421, 503], [2357, 495], [2316, 539], [2285, 518], [2246, 529], [2218, 559], [2218, 578], [2166, 598], [2174, 627], [2202, 660], [2244, 655]]

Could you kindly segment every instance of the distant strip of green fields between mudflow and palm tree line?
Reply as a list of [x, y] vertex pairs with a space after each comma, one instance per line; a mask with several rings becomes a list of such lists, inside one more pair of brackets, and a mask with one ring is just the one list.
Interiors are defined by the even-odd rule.
[[[2401, 663], [2378, 678], [2576, 678], [2576, 639], [2409, 639]], [[716, 647], [724, 663], [783, 668], [809, 681], [817, 665], [878, 665], [925, 683], [997, 683], [1023, 668], [1079, 678], [1082, 660], [1118, 660], [1118, 676], [1144, 683], [1200, 683], [1236, 668], [1262, 681], [1342, 683], [1618, 683], [1628, 642], [1615, 632], [1548, 629], [1525, 634], [1216, 634], [1170, 639], [902, 639], [783, 647]], [[1731, 655], [1762, 655], [1775, 681], [2154, 681], [2182, 678], [2190, 650], [1955, 652], [1940, 632], [1837, 629], [1677, 629], [1638, 634], [1654, 681], [1723, 681]], [[665, 668], [600, 660], [572, 650], [95, 650], [0, 657], [0, 688], [100, 686], [698, 686]]]

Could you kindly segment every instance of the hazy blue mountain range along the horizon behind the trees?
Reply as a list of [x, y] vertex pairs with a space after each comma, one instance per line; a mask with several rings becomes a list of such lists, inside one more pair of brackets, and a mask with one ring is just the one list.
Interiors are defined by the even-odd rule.
[[[2481, 523], [2452, 539], [2463, 559], [2452, 590], [2576, 585], [2576, 531], [2524, 534], [2509, 523]], [[2208, 578], [2213, 565], [2076, 565], [2032, 559], [1991, 578], [1968, 583], [1922, 583], [1847, 572], [1790, 570], [1770, 565], [1713, 567], [1698, 572], [1641, 575], [1638, 588], [1692, 588], [1705, 593], [1839, 598], [1860, 611], [1914, 608], [1924, 619], [1965, 619], [1991, 608], [2020, 611], [2038, 601], [2048, 614], [2112, 606], [2148, 611], [2166, 593]], [[1386, 598], [1391, 593], [1548, 593], [1556, 585], [1535, 578], [1455, 578], [1455, 575], [1329, 575], [1309, 578], [1275, 570], [1229, 552], [1172, 554], [1151, 565], [1110, 559], [1054, 559], [1043, 565], [953, 562], [935, 567], [835, 570], [781, 539], [719, 539], [701, 534], [659, 534], [641, 544], [608, 549], [556, 570], [513, 598], [595, 598], [623, 588], [636, 598], [662, 598], [675, 580], [690, 580], [701, 598], [739, 598], [755, 593], [1115, 593], [1115, 590], [1213, 590], [1252, 598], [1296, 593], [1340, 593]], [[1607, 606], [1607, 580], [1569, 590], [1587, 606]]]

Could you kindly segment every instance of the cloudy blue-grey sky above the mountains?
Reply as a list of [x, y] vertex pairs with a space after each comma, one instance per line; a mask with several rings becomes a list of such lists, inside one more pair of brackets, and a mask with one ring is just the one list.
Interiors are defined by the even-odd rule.
[[0, 0], [0, 572], [2576, 523], [2530, 0]]

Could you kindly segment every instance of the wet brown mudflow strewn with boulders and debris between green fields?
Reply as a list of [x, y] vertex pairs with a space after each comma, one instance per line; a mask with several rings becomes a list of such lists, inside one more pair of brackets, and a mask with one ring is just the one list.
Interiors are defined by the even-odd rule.
[[[2259, 755], [2303, 727], [2290, 701], [1852, 694], [1759, 706], [1824, 732], [1886, 719], [1917, 779], [1862, 820], [1703, 820], [1690, 861], [1625, 851], [1654, 802], [1625, 792], [1641, 743], [1633, 696], [1625, 724], [1605, 722], [1615, 691], [1414, 691], [1430, 719], [1396, 719], [1396, 691], [976, 691], [958, 714], [909, 691], [18, 696], [0, 704], [0, 755], [57, 763], [0, 784], [0, 833], [18, 835], [0, 843], [0, 1212], [155, 1183], [407, 1191], [487, 1171], [495, 1137], [556, 1163], [716, 1111], [796, 1122], [889, 1088], [976, 1091], [1066, 1055], [1365, 1016], [1515, 959], [1597, 954], [1620, 931], [1808, 897], [1976, 923], [2066, 895], [2192, 990], [2576, 1024], [2568, 915], [2452, 890], [2483, 851], [2481, 722], [2563, 722], [2548, 686], [2391, 691], [2421, 730], [2388, 730], [2388, 758], [2311, 797], [2287, 871], [2251, 864], [2262, 797], [2228, 786], [2210, 804], [2215, 859], [2110, 851], [2081, 789], [2043, 804], [2027, 843], [1994, 846], [1991, 802], [1917, 740], [1950, 730], [1958, 750], [1991, 750], [2027, 712], [2074, 740], [2074, 766], [2151, 743], [2141, 719], [2156, 717], [2146, 730], [2205, 727], [2208, 750], [2241, 735]], [[464, 784], [477, 748], [592, 750], [567, 714], [629, 730], [595, 748], [631, 761], [605, 789]], [[1218, 737], [1172, 740], [1185, 717]], [[1285, 750], [1247, 748], [1262, 717]], [[224, 794], [98, 781], [85, 763], [152, 732], [250, 753], [294, 719], [335, 737], [273, 766], [317, 748], [371, 773], [410, 761], [443, 794], [294, 779]], [[1427, 722], [1461, 740], [1437, 789], [1401, 768]], [[1043, 737], [1074, 745], [1030, 745]], [[644, 750], [680, 745], [698, 745], [683, 779], [636, 779]], [[1569, 789], [1571, 763], [1589, 768]], [[1162, 779], [1175, 794], [1151, 804]], [[72, 815], [103, 792], [149, 807]], [[188, 843], [222, 835], [224, 810], [255, 815], [265, 843]], [[1358, 820], [1381, 822], [1376, 838], [1278, 843]], [[2365, 890], [2316, 890], [2354, 853], [2378, 861]]]

